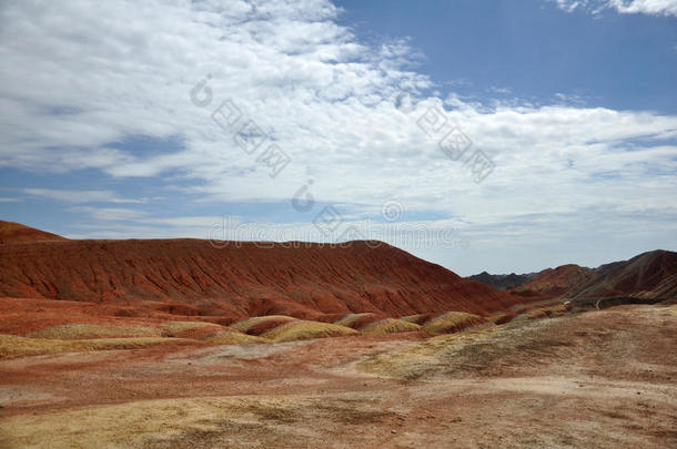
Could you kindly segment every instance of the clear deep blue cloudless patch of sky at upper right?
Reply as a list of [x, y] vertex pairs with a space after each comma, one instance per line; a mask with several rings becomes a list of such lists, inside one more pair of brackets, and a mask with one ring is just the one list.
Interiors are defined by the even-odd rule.
[[425, 53], [418, 70], [443, 93], [487, 101], [508, 90], [498, 98], [539, 104], [559, 93], [588, 106], [677, 113], [674, 17], [566, 13], [539, 0], [337, 4], [341, 23], [363, 39], [410, 37]]

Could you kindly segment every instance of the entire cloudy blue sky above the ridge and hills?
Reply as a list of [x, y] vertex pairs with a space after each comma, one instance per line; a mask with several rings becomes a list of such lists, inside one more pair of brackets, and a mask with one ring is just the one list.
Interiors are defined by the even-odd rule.
[[677, 249], [677, 1], [26, 1], [0, 30], [0, 220], [462, 275]]

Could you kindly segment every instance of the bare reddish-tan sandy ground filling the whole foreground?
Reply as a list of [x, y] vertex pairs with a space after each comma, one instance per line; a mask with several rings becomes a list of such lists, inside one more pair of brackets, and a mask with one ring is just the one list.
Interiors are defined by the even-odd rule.
[[0, 360], [2, 448], [675, 448], [677, 306]]

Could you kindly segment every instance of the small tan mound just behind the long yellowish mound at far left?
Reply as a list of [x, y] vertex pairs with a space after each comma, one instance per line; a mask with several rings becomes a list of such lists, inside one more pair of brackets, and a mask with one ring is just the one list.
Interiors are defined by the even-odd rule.
[[107, 326], [97, 324], [68, 324], [48, 327], [29, 334], [31, 338], [92, 339], [92, 338], [129, 338], [160, 337], [160, 330], [140, 326]]

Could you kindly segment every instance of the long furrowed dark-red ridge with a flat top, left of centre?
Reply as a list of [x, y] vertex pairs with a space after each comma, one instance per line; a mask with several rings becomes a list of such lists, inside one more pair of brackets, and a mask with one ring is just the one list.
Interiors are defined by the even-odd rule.
[[0, 245], [0, 296], [99, 303], [128, 317], [213, 316], [221, 324], [273, 314], [487, 315], [523, 302], [386, 244], [260, 246], [215, 248], [199, 239]]

